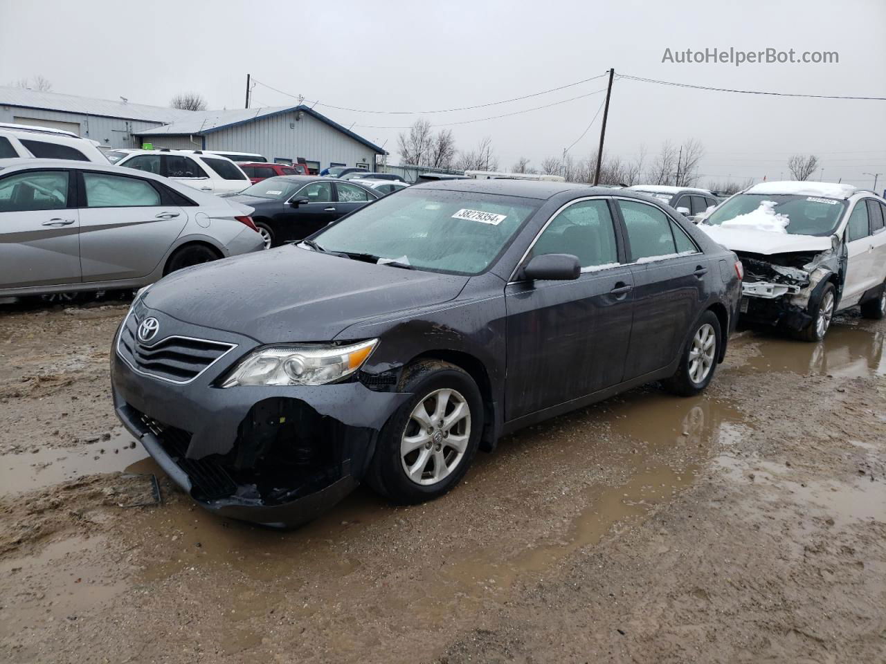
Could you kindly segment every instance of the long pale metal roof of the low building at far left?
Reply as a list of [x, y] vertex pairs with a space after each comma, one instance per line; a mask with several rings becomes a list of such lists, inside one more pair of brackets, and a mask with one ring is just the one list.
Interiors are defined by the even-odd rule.
[[57, 92], [42, 92], [25, 88], [0, 86], [0, 105], [40, 108], [46, 111], [64, 111], [84, 115], [101, 115], [106, 118], [124, 120], [146, 120], [149, 122], [175, 122], [194, 115], [193, 111], [183, 111], [165, 106], [129, 104], [110, 99], [91, 99], [74, 95], [59, 95]]

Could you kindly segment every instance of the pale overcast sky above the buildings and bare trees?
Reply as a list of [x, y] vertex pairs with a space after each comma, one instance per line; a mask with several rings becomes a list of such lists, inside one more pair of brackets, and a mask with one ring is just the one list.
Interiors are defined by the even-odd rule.
[[[665, 49], [837, 51], [838, 64], [672, 64]], [[581, 81], [614, 67], [665, 81], [734, 89], [886, 97], [886, 2], [618, 3], [12, 3], [0, 0], [0, 84], [42, 74], [54, 92], [166, 105], [195, 90], [210, 108], [244, 104], [246, 73], [308, 100], [363, 110], [424, 111], [486, 104]], [[433, 124], [524, 111], [603, 89], [604, 79], [485, 109], [428, 114]], [[502, 169], [560, 156], [603, 93], [453, 128], [470, 150], [491, 137]], [[257, 105], [296, 104], [261, 84]], [[316, 109], [392, 151], [414, 115]], [[602, 113], [600, 114], [602, 118]], [[571, 149], [596, 150], [600, 119]], [[886, 102], [765, 97], [615, 81], [607, 153], [701, 141], [701, 183], [787, 177], [814, 152], [824, 179], [870, 187], [886, 173]], [[709, 177], [710, 176], [710, 177]], [[816, 178], [818, 174], [816, 174]], [[881, 175], [880, 183], [886, 183]], [[878, 189], [882, 189], [878, 184]]]

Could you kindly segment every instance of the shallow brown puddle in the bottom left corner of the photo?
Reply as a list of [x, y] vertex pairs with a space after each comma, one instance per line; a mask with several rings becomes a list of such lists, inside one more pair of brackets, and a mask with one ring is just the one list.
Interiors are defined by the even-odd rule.
[[17, 590], [0, 606], [0, 637], [50, 621], [71, 621], [124, 591], [128, 583], [109, 581], [99, 553], [104, 537], [71, 537], [48, 544], [27, 558], [0, 561], [0, 576], [16, 579]]

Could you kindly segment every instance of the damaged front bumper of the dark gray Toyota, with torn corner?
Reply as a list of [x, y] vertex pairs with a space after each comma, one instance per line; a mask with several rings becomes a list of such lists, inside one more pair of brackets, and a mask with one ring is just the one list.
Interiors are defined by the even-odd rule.
[[409, 398], [361, 382], [221, 389], [137, 373], [113, 351], [114, 408], [160, 467], [200, 506], [294, 527], [359, 483], [378, 431]]

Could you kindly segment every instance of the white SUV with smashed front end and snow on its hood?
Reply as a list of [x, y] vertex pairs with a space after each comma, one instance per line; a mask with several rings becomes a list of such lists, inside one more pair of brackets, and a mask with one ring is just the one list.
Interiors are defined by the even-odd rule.
[[698, 225], [744, 266], [742, 318], [820, 341], [836, 312], [886, 314], [886, 200], [829, 182], [762, 182]]

